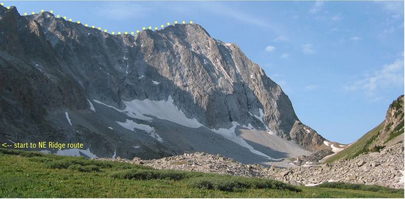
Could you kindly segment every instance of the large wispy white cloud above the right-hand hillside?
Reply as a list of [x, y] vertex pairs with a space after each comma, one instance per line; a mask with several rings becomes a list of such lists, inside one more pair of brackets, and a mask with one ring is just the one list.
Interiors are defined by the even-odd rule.
[[403, 85], [403, 57], [382, 68], [367, 72], [361, 79], [345, 86], [346, 91], [364, 91], [374, 95], [381, 89], [399, 87]]

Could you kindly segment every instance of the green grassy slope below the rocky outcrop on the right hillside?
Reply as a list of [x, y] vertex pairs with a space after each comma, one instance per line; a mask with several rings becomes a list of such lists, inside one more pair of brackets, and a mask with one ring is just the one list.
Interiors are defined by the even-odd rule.
[[328, 158], [325, 161], [325, 163], [332, 163], [341, 159], [351, 159], [364, 152], [370, 151], [369, 149], [370, 145], [377, 139], [380, 130], [383, 129], [383, 127], [384, 123], [381, 123], [376, 128], [363, 135], [355, 143], [351, 144], [350, 146], [340, 151], [336, 155], [333, 155], [332, 157]]

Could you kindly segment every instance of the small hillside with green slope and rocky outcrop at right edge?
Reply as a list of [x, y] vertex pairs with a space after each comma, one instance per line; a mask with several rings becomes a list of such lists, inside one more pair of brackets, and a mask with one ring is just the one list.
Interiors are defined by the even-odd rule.
[[327, 158], [325, 162], [331, 163], [337, 160], [351, 159], [362, 153], [377, 152], [387, 146], [403, 142], [403, 116], [403, 95], [401, 95], [389, 105], [385, 120], [380, 125], [341, 152]]

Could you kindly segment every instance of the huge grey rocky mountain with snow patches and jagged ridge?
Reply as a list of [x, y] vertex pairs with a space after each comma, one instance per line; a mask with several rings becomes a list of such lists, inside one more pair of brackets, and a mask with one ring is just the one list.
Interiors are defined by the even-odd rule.
[[157, 158], [185, 151], [244, 163], [331, 150], [234, 44], [200, 25], [112, 35], [0, 7], [3, 142], [84, 143], [44, 152]]

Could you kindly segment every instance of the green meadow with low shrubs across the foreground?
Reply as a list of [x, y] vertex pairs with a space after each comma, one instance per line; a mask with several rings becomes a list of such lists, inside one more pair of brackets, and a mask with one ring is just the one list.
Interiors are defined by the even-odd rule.
[[[366, 186], [367, 187], [367, 186]], [[0, 197], [403, 197], [0, 149]]]

